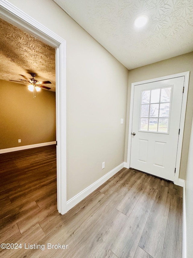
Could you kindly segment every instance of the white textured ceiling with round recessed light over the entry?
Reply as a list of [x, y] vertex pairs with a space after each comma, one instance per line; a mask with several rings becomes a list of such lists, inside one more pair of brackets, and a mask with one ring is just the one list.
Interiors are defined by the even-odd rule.
[[54, 1], [129, 70], [193, 51], [193, 0]]

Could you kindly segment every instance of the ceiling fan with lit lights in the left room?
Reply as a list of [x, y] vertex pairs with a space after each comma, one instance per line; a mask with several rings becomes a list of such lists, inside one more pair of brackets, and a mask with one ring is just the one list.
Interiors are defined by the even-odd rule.
[[47, 84], [47, 83], [51, 83], [50, 81], [41, 81], [39, 82], [38, 80], [34, 79], [34, 77], [36, 76], [36, 73], [30, 73], [32, 78], [27, 79], [27, 77], [25, 77], [24, 75], [20, 74], [20, 76], [24, 77], [25, 80], [20, 80], [20, 81], [15, 81], [15, 80], [10, 80], [12, 82], [20, 82], [20, 83], [30, 83], [30, 85], [28, 86], [28, 89], [30, 91], [33, 91], [33, 98], [36, 97], [36, 91], [39, 91], [40, 88], [46, 89], [46, 90], [50, 90], [51, 88], [46, 87], [42, 84]]

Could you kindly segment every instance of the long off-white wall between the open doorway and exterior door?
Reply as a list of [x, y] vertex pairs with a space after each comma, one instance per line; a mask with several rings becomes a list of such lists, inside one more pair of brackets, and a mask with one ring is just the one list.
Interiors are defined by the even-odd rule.
[[124, 161], [128, 70], [52, 0], [10, 2], [66, 40], [69, 200]]

